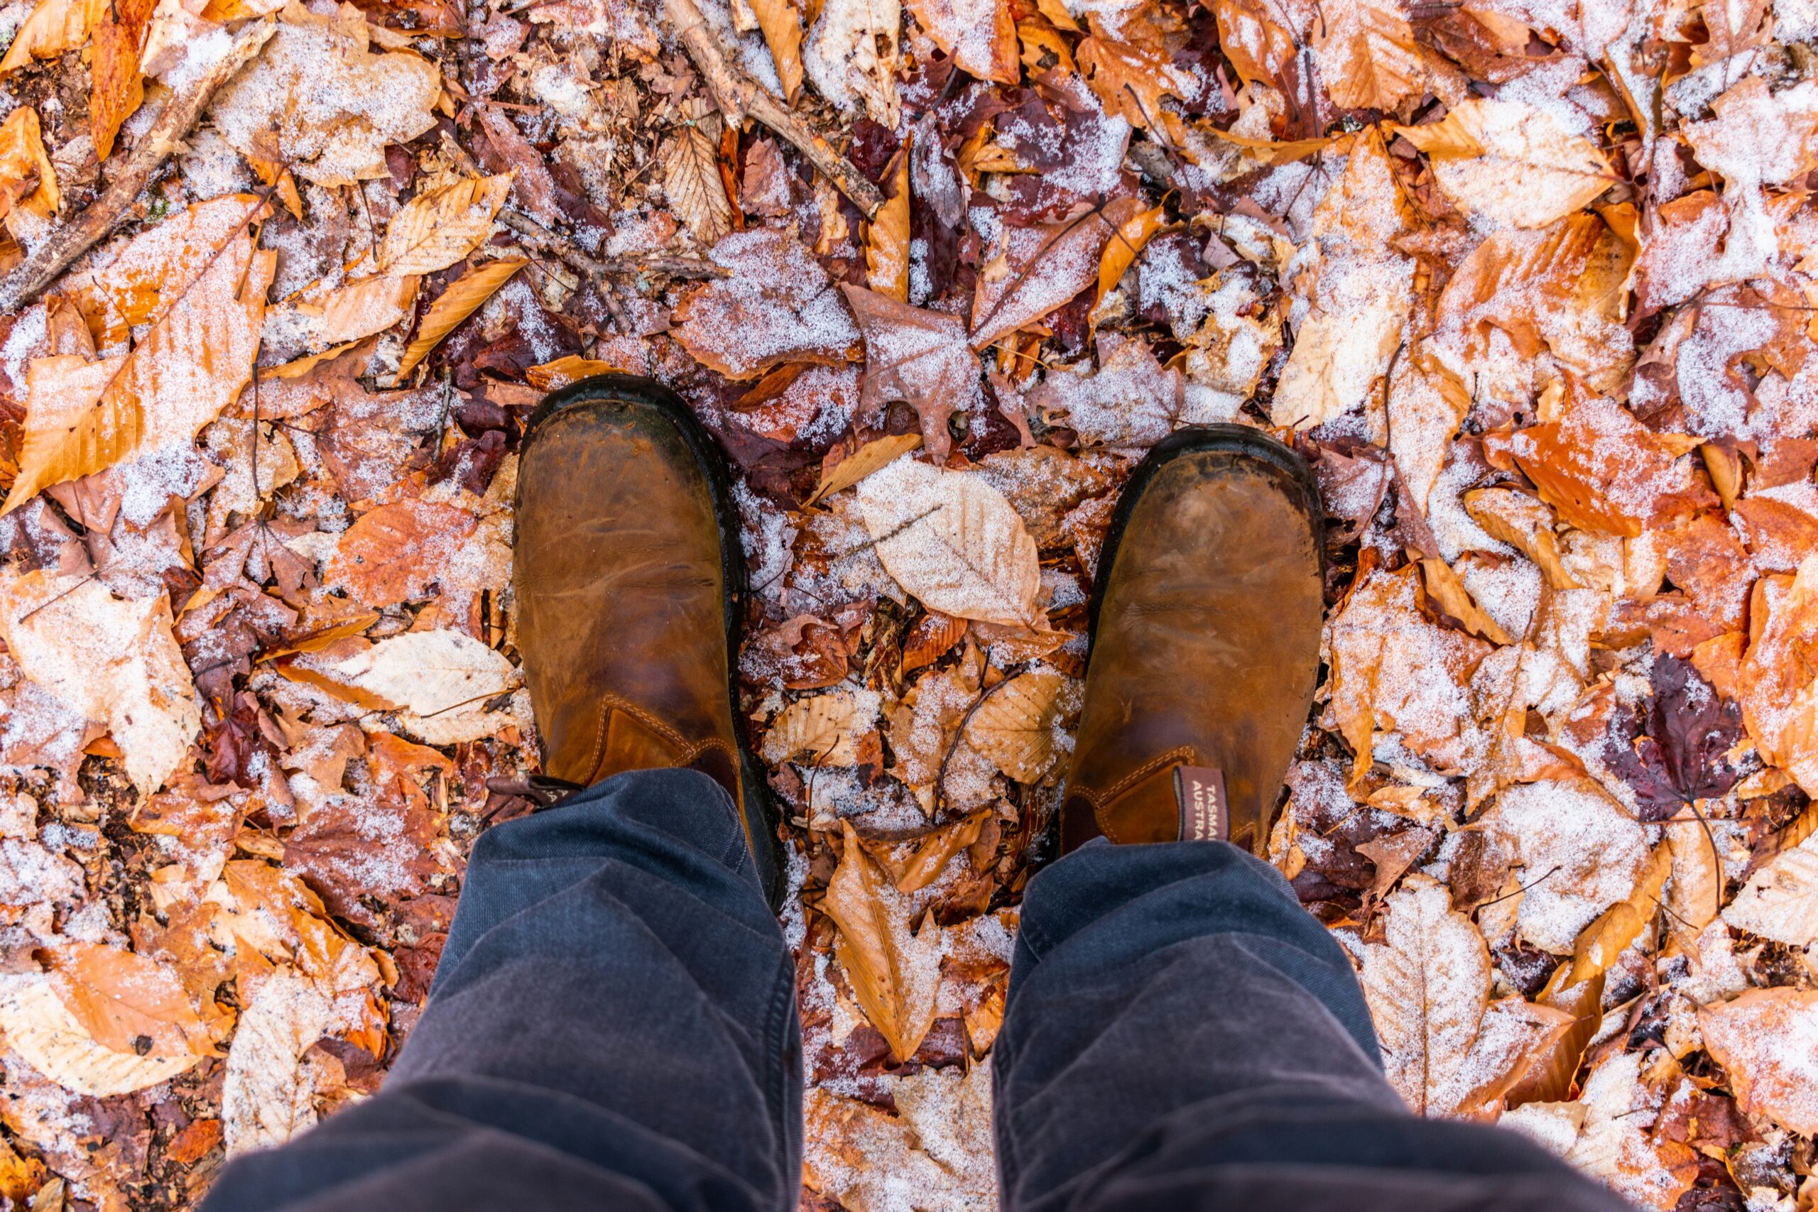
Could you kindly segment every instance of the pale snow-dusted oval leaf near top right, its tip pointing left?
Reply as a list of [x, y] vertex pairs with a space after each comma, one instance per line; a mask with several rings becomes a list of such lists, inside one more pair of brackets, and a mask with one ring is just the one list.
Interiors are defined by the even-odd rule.
[[1547, 227], [1616, 184], [1596, 144], [1527, 102], [1471, 98], [1394, 129], [1431, 156], [1447, 198], [1513, 227]]

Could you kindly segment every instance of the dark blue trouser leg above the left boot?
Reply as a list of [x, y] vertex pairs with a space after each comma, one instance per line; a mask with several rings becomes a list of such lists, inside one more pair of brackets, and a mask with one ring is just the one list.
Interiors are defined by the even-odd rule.
[[385, 1087], [231, 1163], [207, 1212], [784, 1212], [789, 949], [731, 798], [636, 770], [484, 834]]

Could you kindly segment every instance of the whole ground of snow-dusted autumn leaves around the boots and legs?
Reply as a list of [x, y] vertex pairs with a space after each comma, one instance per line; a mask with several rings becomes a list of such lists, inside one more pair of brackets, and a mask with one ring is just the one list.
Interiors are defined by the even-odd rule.
[[[1813, 1207], [1803, 0], [0, 5], [0, 1196], [176, 1208], [378, 1088], [529, 810], [524, 423], [736, 467], [804, 1207], [994, 1207], [985, 1065], [1116, 492], [1327, 503], [1269, 858], [1391, 1081]], [[1418, 990], [1418, 992], [1416, 992]]]

